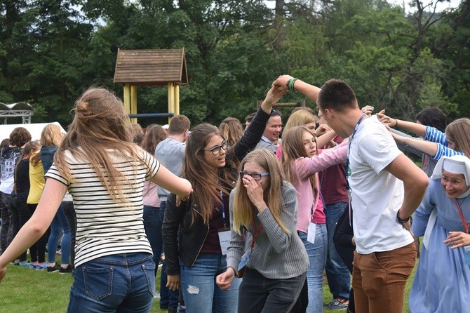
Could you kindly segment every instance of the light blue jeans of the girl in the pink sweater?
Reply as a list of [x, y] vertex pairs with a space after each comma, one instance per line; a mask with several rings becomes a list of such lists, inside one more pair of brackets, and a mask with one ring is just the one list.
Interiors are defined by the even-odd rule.
[[307, 241], [307, 234], [299, 233], [304, 243], [310, 266], [307, 269], [307, 285], [309, 287], [308, 313], [323, 312], [323, 269], [325, 269], [326, 254], [328, 251], [328, 236], [325, 224], [317, 224], [315, 244]]

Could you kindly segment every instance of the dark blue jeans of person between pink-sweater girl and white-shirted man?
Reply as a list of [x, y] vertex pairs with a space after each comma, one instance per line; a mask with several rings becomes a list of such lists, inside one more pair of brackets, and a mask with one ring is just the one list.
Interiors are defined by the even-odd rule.
[[328, 231], [328, 256], [325, 272], [333, 299], [349, 299], [349, 291], [351, 290], [351, 274], [333, 244], [336, 223], [347, 207], [347, 202], [337, 202], [327, 204], [325, 208], [326, 229]]

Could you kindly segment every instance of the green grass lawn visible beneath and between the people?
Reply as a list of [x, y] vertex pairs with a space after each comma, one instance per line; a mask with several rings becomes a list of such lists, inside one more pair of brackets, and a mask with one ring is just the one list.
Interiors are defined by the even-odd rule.
[[[416, 267], [415, 267], [416, 268]], [[414, 271], [412, 277], [414, 277]], [[408, 279], [405, 295], [405, 309], [408, 312], [408, 292], [412, 282]], [[159, 277], [156, 282], [159, 284]], [[8, 265], [8, 272], [4, 281], [0, 284], [0, 311], [22, 313], [62, 313], [67, 309], [69, 290], [72, 286], [71, 274], [58, 274], [34, 271], [29, 268]], [[157, 286], [158, 290], [159, 286]], [[323, 284], [323, 302], [332, 300], [328, 285]], [[159, 302], [154, 302], [152, 312], [166, 312], [159, 307]], [[344, 310], [325, 312], [344, 312]]]

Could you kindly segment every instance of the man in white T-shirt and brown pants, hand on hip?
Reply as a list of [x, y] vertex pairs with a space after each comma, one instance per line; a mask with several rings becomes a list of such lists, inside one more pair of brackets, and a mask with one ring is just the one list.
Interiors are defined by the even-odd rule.
[[354, 209], [356, 312], [401, 313], [406, 280], [416, 260], [409, 219], [422, 201], [427, 175], [396, 147], [376, 116], [361, 112], [344, 81], [327, 81], [317, 104], [328, 125], [350, 142], [347, 176]]

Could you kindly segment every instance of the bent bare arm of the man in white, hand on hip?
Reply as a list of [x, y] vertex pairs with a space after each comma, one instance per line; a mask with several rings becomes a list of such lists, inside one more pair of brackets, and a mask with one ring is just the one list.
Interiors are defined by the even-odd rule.
[[421, 203], [429, 184], [429, 178], [405, 154], [398, 155], [385, 169], [403, 181], [405, 195], [398, 216], [402, 220], [406, 220]]

